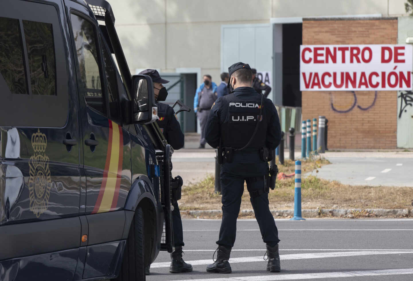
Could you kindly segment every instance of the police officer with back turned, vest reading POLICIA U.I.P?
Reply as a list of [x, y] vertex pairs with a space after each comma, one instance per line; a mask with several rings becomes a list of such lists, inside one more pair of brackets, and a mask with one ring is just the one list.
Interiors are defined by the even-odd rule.
[[228, 68], [228, 73], [231, 92], [216, 100], [205, 128], [205, 139], [209, 145], [218, 148], [218, 158], [222, 161], [223, 214], [216, 241], [218, 257], [216, 262], [207, 266], [207, 272], [231, 272], [228, 260], [235, 242], [244, 181], [247, 182], [252, 208], [266, 243], [267, 270], [280, 272], [280, 240], [268, 207], [268, 186], [272, 185], [268, 184], [268, 174], [271, 173], [268, 169], [268, 151], [280, 144], [280, 120], [271, 100], [251, 87], [252, 72], [248, 64], [233, 64]]

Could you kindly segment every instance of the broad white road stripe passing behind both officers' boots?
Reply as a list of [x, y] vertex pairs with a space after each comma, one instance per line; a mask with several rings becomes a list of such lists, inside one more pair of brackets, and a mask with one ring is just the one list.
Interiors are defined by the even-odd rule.
[[[319, 259], [331, 257], [352, 257], [362, 255], [391, 255], [391, 254], [413, 254], [413, 251], [349, 251], [349, 252], [331, 252], [331, 253], [300, 253], [280, 255], [280, 260], [303, 260], [303, 259]], [[186, 261], [192, 265], [206, 265], [211, 264], [212, 260], [189, 260]], [[258, 257], [234, 257], [230, 258], [230, 263], [238, 262], [263, 262], [263, 256]], [[169, 267], [171, 262], [154, 262], [151, 268]]]

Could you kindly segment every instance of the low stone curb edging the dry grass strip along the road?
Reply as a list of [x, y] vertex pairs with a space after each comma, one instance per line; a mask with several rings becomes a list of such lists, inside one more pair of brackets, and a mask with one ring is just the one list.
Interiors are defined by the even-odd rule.
[[[181, 214], [196, 218], [222, 217], [221, 210], [181, 210]], [[303, 217], [341, 217], [341, 218], [363, 218], [363, 217], [411, 217], [413, 210], [410, 209], [306, 209], [301, 210]], [[294, 216], [294, 210], [272, 210], [274, 218], [288, 218]], [[241, 210], [240, 217], [254, 217], [254, 210]]]

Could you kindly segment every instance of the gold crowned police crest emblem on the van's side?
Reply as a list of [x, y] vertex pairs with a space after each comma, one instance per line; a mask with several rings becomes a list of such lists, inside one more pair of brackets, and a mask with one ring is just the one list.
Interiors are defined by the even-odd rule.
[[30, 179], [28, 180], [30, 210], [36, 217], [40, 217], [40, 215], [47, 210], [50, 188], [52, 186], [49, 157], [45, 154], [47, 137], [40, 132], [40, 129], [31, 136], [31, 146], [33, 147], [34, 154], [28, 161], [30, 175]]

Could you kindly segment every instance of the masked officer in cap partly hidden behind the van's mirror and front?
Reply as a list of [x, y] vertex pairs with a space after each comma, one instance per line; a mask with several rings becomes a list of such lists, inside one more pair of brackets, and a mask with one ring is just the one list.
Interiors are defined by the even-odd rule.
[[[155, 69], [145, 69], [139, 74], [147, 75], [152, 78], [152, 82], [154, 84], [155, 100], [158, 106], [159, 119], [157, 120], [157, 123], [162, 133], [164, 134], [166, 141], [172, 146], [174, 150], [183, 148], [185, 136], [180, 129], [180, 125], [178, 119], [176, 118], [175, 112], [168, 104], [161, 103], [165, 101], [166, 96], [168, 95], [166, 88], [162, 84], [169, 83], [169, 81], [162, 79], [158, 71], [156, 71]], [[171, 253], [171, 265], [169, 266], [169, 272], [191, 272], [192, 265], [187, 264], [182, 259], [182, 247], [185, 244], [183, 243], [182, 221], [180, 217], [178, 201], [174, 200], [172, 205], [172, 228], [175, 251]], [[145, 267], [145, 274], [150, 274], [150, 265]]]

